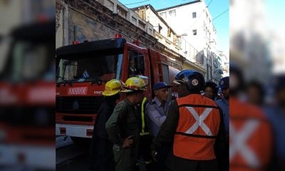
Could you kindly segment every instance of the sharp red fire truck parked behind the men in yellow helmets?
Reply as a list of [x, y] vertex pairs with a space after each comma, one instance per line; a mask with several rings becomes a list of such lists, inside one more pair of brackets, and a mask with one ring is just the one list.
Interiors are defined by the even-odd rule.
[[56, 50], [56, 135], [68, 135], [73, 140], [92, 138], [107, 81], [146, 76], [149, 85], [145, 96], [150, 100], [154, 83], [171, 83], [179, 72], [159, 51], [128, 43], [120, 36], [73, 43]]

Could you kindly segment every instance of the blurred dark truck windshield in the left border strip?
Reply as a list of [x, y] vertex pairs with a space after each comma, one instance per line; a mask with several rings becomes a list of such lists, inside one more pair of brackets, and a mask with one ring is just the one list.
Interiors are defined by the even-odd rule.
[[1, 71], [1, 80], [31, 81], [41, 78], [52, 81], [55, 67], [49, 58], [51, 53], [47, 43], [15, 40], [6, 59], [6, 66]]

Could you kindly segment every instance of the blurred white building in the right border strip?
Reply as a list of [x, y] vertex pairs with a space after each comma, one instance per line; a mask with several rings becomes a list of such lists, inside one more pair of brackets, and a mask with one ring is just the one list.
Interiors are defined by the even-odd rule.
[[[265, 23], [264, 1], [231, 1], [230, 51], [231, 63], [244, 71], [247, 81], [256, 80], [266, 85], [271, 81], [271, 50], [274, 35], [281, 37], [283, 30], [270, 32]], [[242, 13], [240, 12], [242, 11]], [[254, 61], [254, 62], [253, 62]], [[279, 61], [277, 63], [280, 63]]]

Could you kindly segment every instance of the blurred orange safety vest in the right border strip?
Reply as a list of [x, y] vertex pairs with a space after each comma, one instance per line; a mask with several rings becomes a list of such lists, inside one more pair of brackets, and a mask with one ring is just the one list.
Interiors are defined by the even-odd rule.
[[272, 130], [254, 105], [229, 98], [229, 169], [265, 170], [271, 159]]

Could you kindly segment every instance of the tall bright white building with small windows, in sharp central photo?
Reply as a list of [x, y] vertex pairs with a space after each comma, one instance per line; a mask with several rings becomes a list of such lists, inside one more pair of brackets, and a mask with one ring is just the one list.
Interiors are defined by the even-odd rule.
[[181, 48], [186, 59], [205, 68], [206, 80], [217, 80], [212, 74], [212, 71], [217, 70], [217, 64], [214, 64], [217, 61], [217, 31], [204, 1], [191, 1], [159, 9], [157, 13], [181, 35]]

